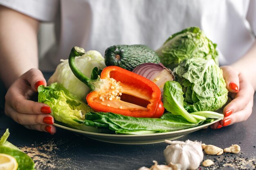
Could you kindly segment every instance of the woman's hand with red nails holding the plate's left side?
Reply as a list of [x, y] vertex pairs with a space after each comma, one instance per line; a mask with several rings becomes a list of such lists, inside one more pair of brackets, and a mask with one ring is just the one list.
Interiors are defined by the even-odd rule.
[[38, 69], [30, 69], [21, 75], [7, 91], [4, 112], [26, 128], [54, 134], [54, 118], [49, 115], [51, 108], [29, 100], [40, 85], [46, 85], [46, 80]]

